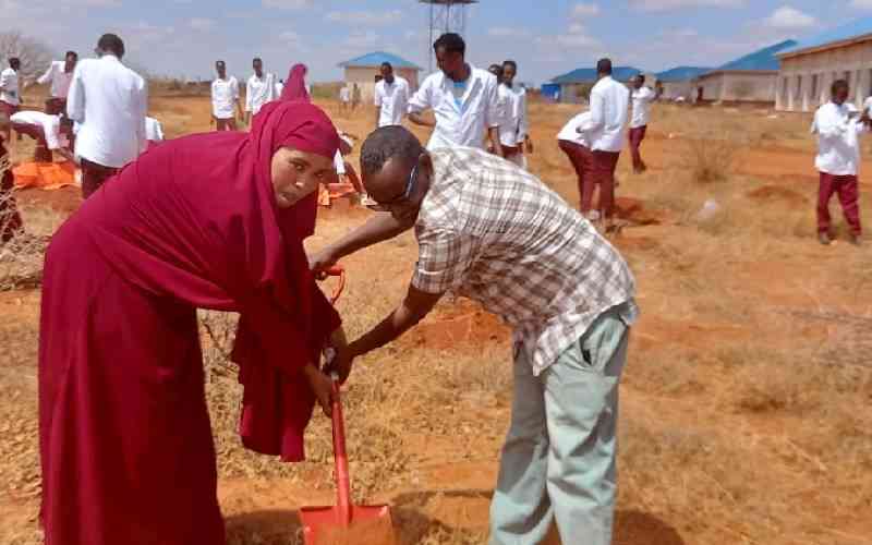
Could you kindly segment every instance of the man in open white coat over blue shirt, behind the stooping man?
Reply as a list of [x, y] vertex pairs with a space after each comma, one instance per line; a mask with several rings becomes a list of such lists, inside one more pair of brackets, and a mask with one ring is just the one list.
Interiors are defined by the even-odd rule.
[[[459, 35], [444, 34], [433, 44], [439, 72], [424, 80], [409, 100], [409, 120], [433, 128], [427, 149], [469, 146], [484, 148], [485, 134], [500, 157], [497, 78], [465, 61], [467, 45]], [[421, 116], [432, 109], [436, 121]]]

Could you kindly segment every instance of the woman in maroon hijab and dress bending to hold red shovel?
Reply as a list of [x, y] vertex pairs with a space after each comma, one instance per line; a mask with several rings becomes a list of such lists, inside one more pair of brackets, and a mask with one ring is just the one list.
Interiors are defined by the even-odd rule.
[[196, 308], [241, 314], [246, 447], [303, 458], [320, 348], [344, 335], [308, 269], [318, 183], [339, 137], [305, 102], [251, 133], [173, 140], [55, 235], [39, 339], [47, 545], [221, 545]]

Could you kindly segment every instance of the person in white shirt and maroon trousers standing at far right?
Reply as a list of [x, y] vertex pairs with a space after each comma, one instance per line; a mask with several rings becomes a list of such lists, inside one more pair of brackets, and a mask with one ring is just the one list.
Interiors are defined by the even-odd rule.
[[860, 165], [859, 135], [869, 130], [869, 111], [860, 113], [848, 102], [849, 86], [836, 80], [831, 88], [832, 100], [818, 108], [811, 125], [818, 135], [818, 157], [814, 166], [820, 172], [818, 191], [818, 240], [832, 242], [829, 232], [829, 199], [838, 193], [845, 221], [850, 227], [849, 241], [860, 244], [860, 193], [857, 169]]

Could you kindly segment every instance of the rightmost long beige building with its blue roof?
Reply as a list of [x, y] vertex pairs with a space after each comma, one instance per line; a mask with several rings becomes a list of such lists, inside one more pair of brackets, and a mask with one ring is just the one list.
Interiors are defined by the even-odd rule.
[[872, 95], [872, 17], [802, 40], [778, 58], [777, 109], [812, 111], [829, 100], [829, 86], [839, 78], [848, 81], [859, 108]]

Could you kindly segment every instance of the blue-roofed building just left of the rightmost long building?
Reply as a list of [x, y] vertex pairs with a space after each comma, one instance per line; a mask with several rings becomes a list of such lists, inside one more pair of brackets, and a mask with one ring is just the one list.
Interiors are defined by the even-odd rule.
[[697, 77], [703, 101], [774, 102], [780, 63], [776, 53], [796, 46], [786, 40], [746, 55]]

